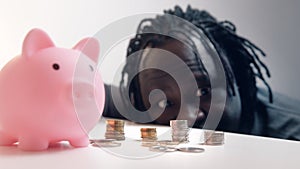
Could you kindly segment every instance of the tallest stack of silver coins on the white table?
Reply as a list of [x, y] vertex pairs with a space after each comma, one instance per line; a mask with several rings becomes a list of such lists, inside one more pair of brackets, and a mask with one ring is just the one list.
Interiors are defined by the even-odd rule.
[[187, 120], [171, 120], [173, 142], [187, 142], [189, 137], [189, 127]]

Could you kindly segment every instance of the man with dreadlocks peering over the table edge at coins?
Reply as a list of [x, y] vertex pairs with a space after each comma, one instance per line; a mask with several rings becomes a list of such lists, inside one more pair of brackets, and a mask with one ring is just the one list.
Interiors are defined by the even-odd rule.
[[[170, 15], [182, 18], [192, 26], [170, 19]], [[195, 30], [193, 26], [200, 31]], [[201, 40], [201, 37], [207, 37], [207, 44], [212, 44], [211, 50], [217, 52], [225, 72], [226, 87], [212, 87], [212, 79], [215, 77], [210, 74], [211, 66], [204, 63], [206, 55], [197, 48], [198, 42], [195, 37], [200, 37], [198, 41], [201, 43], [206, 40]], [[204, 48], [207, 46], [209, 45], [204, 44]], [[189, 104], [182, 104], [180, 89], [188, 89], [188, 83], [178, 86], [176, 79], [158, 69], [143, 70], [135, 74], [136, 71], [142, 70], [141, 67], [176, 67], [172, 61], [165, 59], [165, 55], [168, 54], [157, 49], [176, 55], [192, 71], [198, 88], [194, 94], [200, 100], [196, 113], [189, 111]], [[165, 11], [164, 15], [141, 21], [137, 34], [131, 39], [128, 47], [127, 64], [123, 70], [120, 91], [129, 96], [130, 104], [139, 111], [153, 107], [156, 107], [156, 111], [161, 109], [162, 114], [155, 117], [152, 123], [169, 124], [170, 120], [178, 118], [180, 111], [183, 111], [187, 120], [194, 119], [193, 127], [202, 128], [210, 110], [218, 107], [218, 104], [212, 103], [212, 90], [215, 90], [219, 96], [225, 95], [224, 111], [217, 126], [218, 130], [300, 140], [300, 104], [277, 93], [273, 96], [265, 80], [265, 74], [270, 77], [269, 70], [261, 62], [259, 55], [265, 54], [249, 40], [238, 36], [231, 22], [218, 22], [208, 12], [192, 9], [190, 6], [186, 12], [176, 6], [174, 10]], [[182, 77], [184, 76], [183, 74]], [[267, 91], [257, 87], [257, 78], [262, 80]], [[122, 90], [124, 86], [128, 91]], [[127, 115], [124, 115], [124, 112], [119, 113], [120, 109], [115, 107], [122, 101], [113, 101], [110, 94], [115, 90], [109, 89], [106, 87], [107, 104], [103, 115], [124, 118]], [[160, 89], [166, 97], [153, 97], [150, 103], [149, 95], [154, 89]], [[122, 98], [124, 101], [124, 97]], [[182, 107], [186, 109], [181, 109]], [[134, 110], [128, 111], [133, 113]]]

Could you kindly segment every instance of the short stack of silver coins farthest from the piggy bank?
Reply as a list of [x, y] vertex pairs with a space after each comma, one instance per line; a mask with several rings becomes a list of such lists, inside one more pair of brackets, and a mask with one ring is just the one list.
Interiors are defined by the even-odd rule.
[[204, 144], [222, 145], [224, 144], [224, 132], [222, 131], [204, 131]]

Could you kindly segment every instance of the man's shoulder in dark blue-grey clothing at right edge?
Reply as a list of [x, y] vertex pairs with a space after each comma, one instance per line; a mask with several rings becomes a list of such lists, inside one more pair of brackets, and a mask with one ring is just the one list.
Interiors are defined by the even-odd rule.
[[268, 92], [262, 88], [258, 89], [257, 97], [263, 107], [260, 111], [265, 113], [267, 136], [300, 140], [300, 101], [273, 92], [273, 103], [270, 103]]

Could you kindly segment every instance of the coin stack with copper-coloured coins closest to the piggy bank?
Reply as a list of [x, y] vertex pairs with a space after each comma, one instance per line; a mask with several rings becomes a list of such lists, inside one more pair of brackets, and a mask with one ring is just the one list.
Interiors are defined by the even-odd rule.
[[125, 140], [124, 121], [123, 120], [106, 120], [106, 139]]

